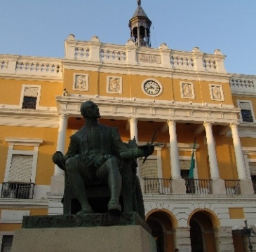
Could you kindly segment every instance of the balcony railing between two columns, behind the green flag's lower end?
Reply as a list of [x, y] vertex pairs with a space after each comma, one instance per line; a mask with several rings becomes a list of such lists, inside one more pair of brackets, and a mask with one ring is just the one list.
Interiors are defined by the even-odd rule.
[[194, 194], [210, 194], [211, 180], [210, 179], [185, 179], [186, 193]]

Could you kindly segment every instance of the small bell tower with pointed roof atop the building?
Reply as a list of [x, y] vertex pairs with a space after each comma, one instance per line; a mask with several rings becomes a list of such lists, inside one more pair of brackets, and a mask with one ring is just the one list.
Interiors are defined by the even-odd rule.
[[137, 0], [137, 9], [129, 20], [130, 38], [135, 45], [151, 47], [150, 26], [151, 21], [141, 6], [141, 0]]

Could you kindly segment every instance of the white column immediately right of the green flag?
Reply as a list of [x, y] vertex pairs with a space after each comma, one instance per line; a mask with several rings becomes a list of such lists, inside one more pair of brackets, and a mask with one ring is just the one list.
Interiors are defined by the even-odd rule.
[[208, 146], [209, 162], [210, 162], [210, 176], [211, 179], [220, 179], [219, 168], [217, 165], [217, 156], [215, 152], [215, 142], [213, 139], [213, 129], [211, 123], [203, 123], [206, 128], [206, 139]]

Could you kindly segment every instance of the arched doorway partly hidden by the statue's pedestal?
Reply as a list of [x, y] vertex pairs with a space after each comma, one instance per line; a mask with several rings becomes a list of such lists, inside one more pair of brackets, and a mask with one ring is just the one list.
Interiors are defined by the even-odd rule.
[[156, 239], [157, 252], [174, 251], [173, 223], [165, 211], [154, 211], [147, 216], [147, 224]]

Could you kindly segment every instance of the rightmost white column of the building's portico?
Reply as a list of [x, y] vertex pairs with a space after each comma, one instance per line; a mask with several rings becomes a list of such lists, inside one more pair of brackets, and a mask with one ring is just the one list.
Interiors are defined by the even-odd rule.
[[232, 132], [232, 138], [233, 138], [233, 144], [234, 144], [234, 151], [236, 155], [236, 167], [238, 172], [238, 178], [239, 179], [248, 179], [245, 169], [245, 161], [243, 159], [243, 150], [238, 134], [238, 127], [236, 124], [231, 124], [231, 132]]

